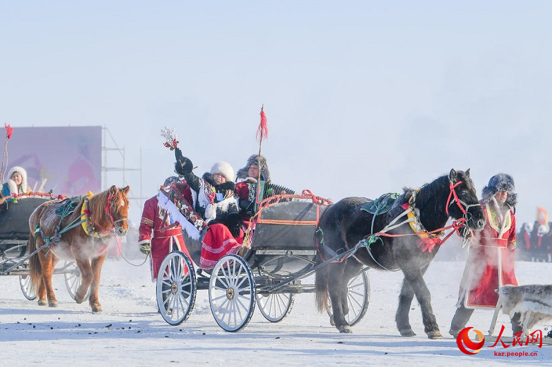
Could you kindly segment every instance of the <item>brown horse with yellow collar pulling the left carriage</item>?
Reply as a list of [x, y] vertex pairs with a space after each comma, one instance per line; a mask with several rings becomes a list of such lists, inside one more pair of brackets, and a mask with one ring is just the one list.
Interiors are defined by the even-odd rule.
[[30, 258], [29, 268], [32, 284], [38, 290], [39, 306], [57, 306], [52, 273], [63, 259], [75, 260], [81, 272], [82, 283], [75, 301], [83, 302], [90, 287], [88, 301], [92, 312], [101, 311], [98, 287], [108, 249], [106, 236], [112, 234], [112, 229], [117, 236], [128, 231], [128, 189], [114, 185], [95, 196], [45, 202], [32, 212], [29, 251], [40, 250]]

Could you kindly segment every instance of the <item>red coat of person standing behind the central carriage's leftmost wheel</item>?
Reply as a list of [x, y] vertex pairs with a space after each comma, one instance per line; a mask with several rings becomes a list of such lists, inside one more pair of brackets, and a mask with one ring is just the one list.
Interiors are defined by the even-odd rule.
[[161, 266], [161, 262], [163, 262], [166, 255], [172, 251], [172, 244], [175, 244], [179, 251], [186, 253], [190, 260], [192, 259], [188, 253], [188, 249], [186, 249], [180, 225], [161, 232], [161, 228], [170, 224], [168, 218], [166, 222], [163, 222], [164, 216], [164, 209], [157, 207], [157, 196], [148, 199], [144, 203], [144, 211], [142, 212], [142, 219], [140, 221], [138, 243], [143, 244], [151, 242], [150, 269], [152, 271], [152, 280], [157, 279], [159, 266]]

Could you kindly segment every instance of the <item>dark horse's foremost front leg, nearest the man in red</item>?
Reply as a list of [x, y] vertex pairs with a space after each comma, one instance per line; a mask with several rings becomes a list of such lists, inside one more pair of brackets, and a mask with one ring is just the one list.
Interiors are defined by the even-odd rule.
[[424, 282], [422, 269], [414, 264], [413, 266], [404, 266], [402, 272], [404, 273], [404, 279], [414, 291], [416, 299], [420, 303], [420, 308], [422, 308], [422, 321], [427, 337], [429, 339], [441, 339], [441, 331], [439, 325], [437, 325], [437, 319], [433, 315], [433, 308], [431, 308], [431, 293], [429, 293], [426, 282]]

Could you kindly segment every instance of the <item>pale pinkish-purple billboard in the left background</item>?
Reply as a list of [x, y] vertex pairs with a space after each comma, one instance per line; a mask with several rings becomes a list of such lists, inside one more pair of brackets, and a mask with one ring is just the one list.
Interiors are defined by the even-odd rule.
[[20, 166], [32, 191], [43, 180], [43, 192], [79, 196], [101, 191], [101, 126], [12, 128], [3, 175]]

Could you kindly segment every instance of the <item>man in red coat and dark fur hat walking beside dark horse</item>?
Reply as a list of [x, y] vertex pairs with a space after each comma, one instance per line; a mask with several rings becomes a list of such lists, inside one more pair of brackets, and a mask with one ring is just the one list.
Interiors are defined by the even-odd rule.
[[[491, 177], [483, 188], [480, 203], [487, 220], [482, 231], [475, 234], [460, 282], [456, 313], [449, 333], [457, 337], [466, 327], [474, 308], [495, 308], [495, 289], [504, 285], [517, 286], [514, 272], [515, 205], [513, 178], [508, 174]], [[511, 320], [513, 334], [522, 331], [520, 314]]]

